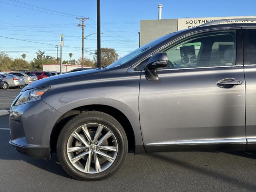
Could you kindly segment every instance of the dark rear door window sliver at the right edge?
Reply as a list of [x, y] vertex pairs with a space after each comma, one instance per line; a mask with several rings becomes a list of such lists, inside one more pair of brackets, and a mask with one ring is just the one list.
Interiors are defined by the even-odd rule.
[[250, 64], [256, 64], [256, 29], [248, 29]]

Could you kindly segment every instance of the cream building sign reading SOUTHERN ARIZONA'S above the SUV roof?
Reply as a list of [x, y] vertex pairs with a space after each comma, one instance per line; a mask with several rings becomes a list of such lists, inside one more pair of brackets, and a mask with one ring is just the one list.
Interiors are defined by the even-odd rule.
[[[219, 19], [238, 19], [238, 18], [255, 18], [255, 16], [235, 16], [235, 17], [205, 17], [205, 18], [182, 18], [178, 19], [178, 30], [183, 30], [187, 28], [193, 28], [210, 21]], [[240, 21], [244, 22], [244, 21]], [[249, 21], [248, 21], [249, 22]]]

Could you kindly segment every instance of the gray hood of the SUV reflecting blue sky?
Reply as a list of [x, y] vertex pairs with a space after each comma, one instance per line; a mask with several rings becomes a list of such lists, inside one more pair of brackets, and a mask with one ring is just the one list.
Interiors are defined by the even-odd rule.
[[26, 91], [29, 89], [43, 87], [43, 86], [54, 86], [56, 84], [65, 84], [73, 81], [82, 81], [88, 79], [89, 76], [97, 75], [102, 72], [102, 69], [94, 69], [94, 70], [83, 70], [78, 72], [65, 73], [56, 76], [50, 76], [47, 78], [43, 78], [37, 80], [26, 87], [24, 87], [21, 91]]

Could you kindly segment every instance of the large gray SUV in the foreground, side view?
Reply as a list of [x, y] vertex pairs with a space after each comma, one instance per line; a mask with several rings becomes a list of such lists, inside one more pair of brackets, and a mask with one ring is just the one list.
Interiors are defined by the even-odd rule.
[[78, 180], [113, 175], [128, 150], [255, 150], [255, 37], [255, 19], [218, 20], [106, 68], [33, 82], [12, 103], [10, 144], [31, 157], [57, 152]]

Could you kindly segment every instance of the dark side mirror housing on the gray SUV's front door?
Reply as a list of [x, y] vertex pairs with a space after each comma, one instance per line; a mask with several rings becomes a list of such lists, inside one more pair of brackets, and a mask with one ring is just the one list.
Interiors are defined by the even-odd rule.
[[168, 64], [168, 56], [165, 52], [155, 53], [146, 63], [146, 70], [165, 68]]

